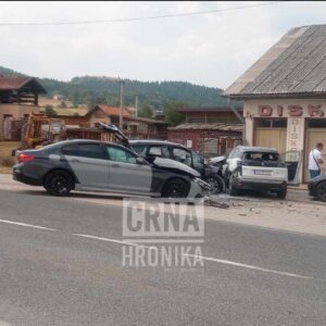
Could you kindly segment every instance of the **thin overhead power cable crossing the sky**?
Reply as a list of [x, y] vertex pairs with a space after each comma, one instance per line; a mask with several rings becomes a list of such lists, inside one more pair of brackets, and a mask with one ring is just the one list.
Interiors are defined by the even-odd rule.
[[131, 18], [115, 18], [115, 20], [95, 20], [95, 21], [76, 21], [76, 22], [57, 22], [57, 23], [0, 23], [0, 26], [58, 26], [58, 25], [86, 25], [86, 24], [102, 24], [102, 23], [123, 23], [123, 22], [135, 22], [135, 21], [149, 21], [149, 20], [159, 20], [159, 18], [171, 18], [171, 17], [181, 17], [181, 16], [192, 16], [192, 15], [203, 15], [210, 13], [234, 11], [241, 9], [251, 9], [258, 7], [265, 7], [271, 4], [284, 3], [285, 1], [272, 1], [264, 2], [252, 5], [241, 5], [234, 8], [216, 9], [216, 10], [206, 10], [206, 11], [196, 11], [188, 13], [179, 14], [165, 14], [158, 16], [146, 16], [146, 17], [131, 17]]

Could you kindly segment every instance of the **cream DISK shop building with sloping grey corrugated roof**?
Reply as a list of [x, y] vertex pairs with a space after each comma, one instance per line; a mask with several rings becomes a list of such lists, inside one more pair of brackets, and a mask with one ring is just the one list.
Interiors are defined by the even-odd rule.
[[305, 181], [309, 152], [326, 146], [326, 25], [288, 32], [224, 95], [243, 100], [246, 143], [292, 151]]

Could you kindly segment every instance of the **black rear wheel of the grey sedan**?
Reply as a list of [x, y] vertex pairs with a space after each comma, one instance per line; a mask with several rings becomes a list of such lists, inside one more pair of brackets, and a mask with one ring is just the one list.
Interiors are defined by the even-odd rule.
[[46, 176], [43, 186], [50, 195], [66, 196], [74, 188], [74, 179], [65, 171], [53, 171]]

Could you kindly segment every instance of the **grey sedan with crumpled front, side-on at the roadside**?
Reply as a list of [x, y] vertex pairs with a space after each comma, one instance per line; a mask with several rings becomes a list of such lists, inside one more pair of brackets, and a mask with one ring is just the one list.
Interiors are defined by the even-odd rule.
[[113, 191], [164, 198], [200, 198], [210, 185], [190, 166], [154, 158], [151, 162], [116, 143], [66, 140], [17, 153], [13, 178], [43, 186], [55, 196], [71, 190]]

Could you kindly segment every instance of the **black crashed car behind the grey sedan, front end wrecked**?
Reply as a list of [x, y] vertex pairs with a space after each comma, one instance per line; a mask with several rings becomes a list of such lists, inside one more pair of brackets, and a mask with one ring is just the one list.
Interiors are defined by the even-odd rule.
[[146, 159], [172, 159], [195, 168], [200, 173], [202, 179], [211, 185], [212, 193], [218, 193], [225, 190], [222, 176], [222, 162], [205, 162], [204, 159], [193, 150], [166, 140], [129, 140], [128, 143], [137, 154]]

